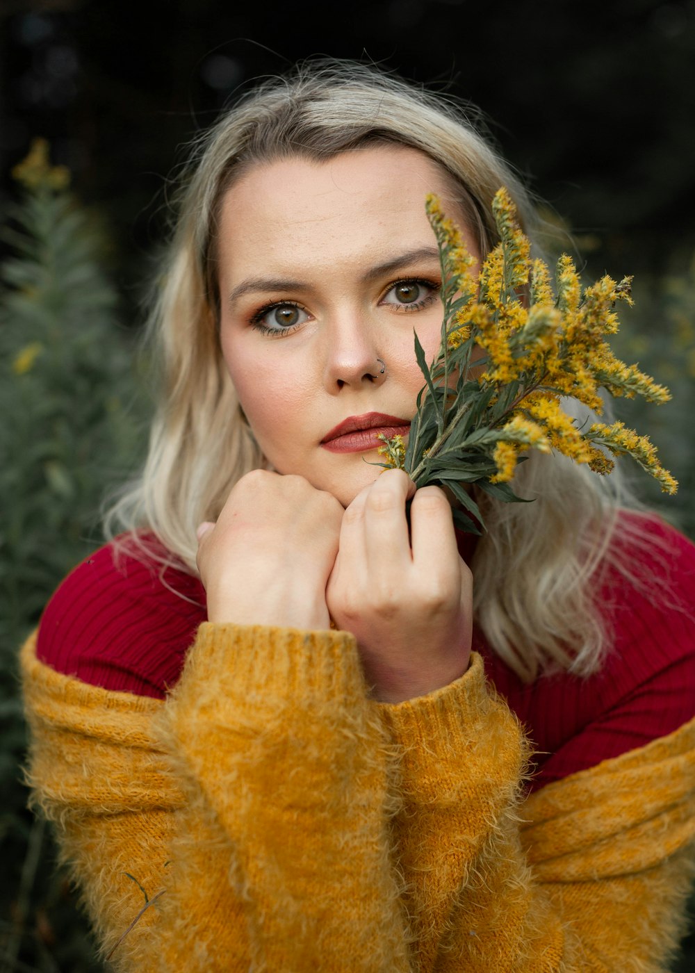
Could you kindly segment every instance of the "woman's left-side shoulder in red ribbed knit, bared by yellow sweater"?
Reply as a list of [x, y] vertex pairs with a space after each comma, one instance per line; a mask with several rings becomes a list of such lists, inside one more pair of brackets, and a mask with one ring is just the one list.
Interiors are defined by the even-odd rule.
[[124, 535], [78, 564], [41, 619], [37, 657], [104, 689], [163, 698], [205, 620], [200, 581], [152, 537]]

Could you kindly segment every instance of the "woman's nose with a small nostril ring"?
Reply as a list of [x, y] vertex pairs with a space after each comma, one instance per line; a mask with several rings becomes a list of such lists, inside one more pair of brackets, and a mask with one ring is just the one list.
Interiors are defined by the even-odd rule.
[[354, 311], [336, 315], [326, 329], [325, 382], [332, 393], [381, 385], [386, 377], [384, 349], [379, 347], [374, 324]]

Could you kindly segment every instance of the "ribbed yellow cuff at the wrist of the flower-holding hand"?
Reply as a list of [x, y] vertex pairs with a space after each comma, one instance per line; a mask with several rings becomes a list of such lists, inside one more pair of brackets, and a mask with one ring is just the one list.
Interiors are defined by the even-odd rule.
[[473, 652], [466, 671], [448, 686], [404, 703], [378, 705], [393, 739], [408, 746], [431, 747], [435, 739], [465, 739], [490, 703], [483, 660]]

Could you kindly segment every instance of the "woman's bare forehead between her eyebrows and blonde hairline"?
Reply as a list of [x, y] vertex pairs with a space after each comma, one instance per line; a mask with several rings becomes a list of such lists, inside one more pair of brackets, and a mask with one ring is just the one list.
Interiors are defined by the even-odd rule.
[[387, 234], [417, 234], [431, 243], [427, 193], [458, 216], [454, 180], [406, 147], [376, 146], [321, 162], [297, 156], [258, 163], [222, 200], [220, 245], [275, 251]]

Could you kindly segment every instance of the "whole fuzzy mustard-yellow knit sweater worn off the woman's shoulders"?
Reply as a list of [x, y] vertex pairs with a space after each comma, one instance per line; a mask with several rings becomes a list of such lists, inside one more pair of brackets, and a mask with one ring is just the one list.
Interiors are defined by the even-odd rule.
[[398, 705], [340, 631], [206, 623], [165, 703], [33, 638], [22, 667], [33, 801], [118, 970], [656, 973], [677, 946], [695, 721], [524, 800], [476, 655]]

